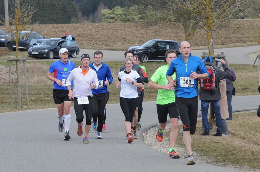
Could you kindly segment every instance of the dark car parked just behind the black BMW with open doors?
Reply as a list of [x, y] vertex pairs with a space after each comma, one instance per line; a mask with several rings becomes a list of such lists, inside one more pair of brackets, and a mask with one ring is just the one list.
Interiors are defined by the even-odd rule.
[[[30, 33], [30, 31], [22, 31], [19, 32], [19, 35], [25, 35]], [[10, 37], [10, 36], [9, 36]], [[37, 44], [39, 45], [41, 42], [45, 41], [45, 37], [43, 37], [42, 35], [38, 34], [37, 32], [32, 32], [31, 34], [25, 36], [23, 39], [20, 39], [18, 41], [18, 47], [19, 49], [24, 49], [24, 50], [28, 50], [29, 49], [29, 44], [31, 42], [32, 39], [36, 39]], [[15, 41], [11, 41], [10, 39], [6, 39], [5, 40], [5, 46], [14, 51], [16, 49], [16, 43]]]

